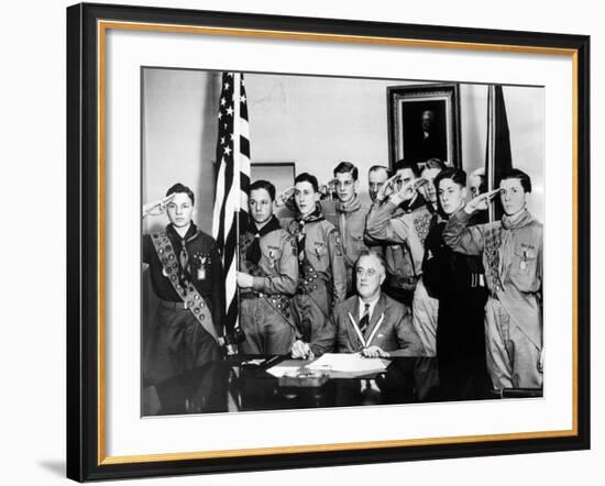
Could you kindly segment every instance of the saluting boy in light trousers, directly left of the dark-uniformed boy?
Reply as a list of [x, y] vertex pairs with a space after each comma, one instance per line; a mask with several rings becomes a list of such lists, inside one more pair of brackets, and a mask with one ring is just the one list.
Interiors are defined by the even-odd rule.
[[414, 328], [427, 354], [435, 356], [439, 302], [428, 295], [421, 280], [432, 212], [418, 192], [426, 181], [418, 179], [416, 164], [400, 161], [396, 168], [396, 175], [381, 188], [370, 209], [365, 234], [370, 241], [387, 244], [387, 292], [411, 307]]

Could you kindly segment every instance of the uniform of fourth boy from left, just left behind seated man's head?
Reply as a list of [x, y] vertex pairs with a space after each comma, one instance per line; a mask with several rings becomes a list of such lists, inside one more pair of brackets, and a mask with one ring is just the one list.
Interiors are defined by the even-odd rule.
[[359, 196], [355, 195], [350, 202], [337, 202], [337, 228], [342, 238], [344, 264], [346, 266], [346, 295], [355, 292], [355, 263], [361, 252], [367, 250], [363, 233], [365, 219], [370, 208], [361, 206]]

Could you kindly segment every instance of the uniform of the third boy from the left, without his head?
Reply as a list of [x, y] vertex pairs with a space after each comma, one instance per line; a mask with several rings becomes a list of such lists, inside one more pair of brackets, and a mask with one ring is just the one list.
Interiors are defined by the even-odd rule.
[[298, 248], [298, 289], [294, 298], [299, 330], [315, 354], [321, 354], [317, 339], [331, 327], [332, 307], [344, 300], [346, 269], [338, 230], [323, 218], [295, 220], [289, 232], [304, 247]]

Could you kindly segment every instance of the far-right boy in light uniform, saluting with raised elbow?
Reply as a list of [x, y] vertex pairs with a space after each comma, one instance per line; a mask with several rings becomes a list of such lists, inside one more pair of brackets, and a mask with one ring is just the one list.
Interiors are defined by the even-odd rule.
[[[475, 211], [499, 192], [502, 221], [468, 228]], [[531, 180], [512, 169], [499, 189], [471, 200], [450, 218], [443, 241], [455, 252], [482, 255], [490, 298], [485, 305], [487, 371], [495, 389], [542, 386], [542, 231], [526, 209]]]

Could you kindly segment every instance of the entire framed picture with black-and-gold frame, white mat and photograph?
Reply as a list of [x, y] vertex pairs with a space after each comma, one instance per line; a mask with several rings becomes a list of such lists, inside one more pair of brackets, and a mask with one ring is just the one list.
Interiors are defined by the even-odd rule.
[[[460, 32], [68, 8], [68, 477], [590, 446], [590, 41]], [[370, 175], [386, 176], [400, 159], [444, 163], [459, 206], [447, 212], [447, 197], [439, 199], [446, 186], [431, 192], [433, 179], [425, 175], [424, 185], [410, 186], [424, 212], [378, 228], [372, 208], [397, 218], [414, 211], [411, 202], [389, 205], [404, 189], [380, 197], [371, 190]], [[293, 184], [300, 185], [294, 212], [274, 221]], [[333, 222], [322, 212], [320, 188], [328, 184]], [[488, 213], [487, 200], [468, 197], [473, 188], [505, 210], [514, 192], [524, 218], [516, 217], [521, 210], [512, 211], [515, 218]], [[308, 213], [305, 191], [315, 198]], [[353, 198], [345, 200], [348, 191]], [[438, 352], [416, 336], [411, 309], [417, 288], [428, 297], [438, 291], [428, 281], [430, 258], [418, 257], [443, 247], [426, 246], [430, 229], [443, 229], [454, 209], [473, 200], [487, 236], [470, 256], [488, 270], [477, 265], [458, 284], [504, 307], [496, 277], [510, 268], [525, 289], [517, 297], [530, 301], [532, 313], [517, 328], [531, 324], [522, 328], [532, 332], [524, 342], [532, 346], [537, 378], [473, 388], [461, 398], [461, 388], [443, 386], [457, 366], [439, 367]], [[362, 208], [363, 224], [352, 227], [349, 212]], [[378, 223], [369, 230], [373, 217]], [[387, 227], [391, 218], [382, 220]], [[263, 230], [270, 221], [271, 233]], [[386, 281], [404, 227], [416, 232], [413, 266], [421, 275]], [[529, 235], [517, 242], [513, 230], [526, 227]], [[343, 241], [346, 231], [352, 236]], [[391, 252], [386, 262], [365, 252], [372, 239]], [[498, 252], [504, 241], [518, 245]], [[345, 290], [352, 247], [360, 254]], [[362, 257], [374, 266], [361, 266]], [[358, 281], [367, 277], [378, 289], [373, 316], [363, 298], [355, 300], [365, 286]], [[415, 285], [402, 302], [382, 295], [381, 286], [395, 280]], [[318, 303], [321, 289], [330, 299]], [[387, 307], [396, 309], [388, 322]], [[305, 313], [305, 325], [321, 323], [317, 335], [328, 336], [320, 352], [312, 333], [308, 342], [299, 333]], [[275, 321], [263, 321], [263, 335], [277, 323], [292, 331], [286, 351], [267, 344], [271, 351], [246, 352], [252, 325], [270, 314]], [[253, 322], [244, 332], [246, 319]], [[324, 333], [337, 329], [344, 331]], [[302, 357], [293, 351], [296, 342]], [[376, 342], [391, 347], [367, 352]], [[359, 423], [372, 427], [352, 426]]]

